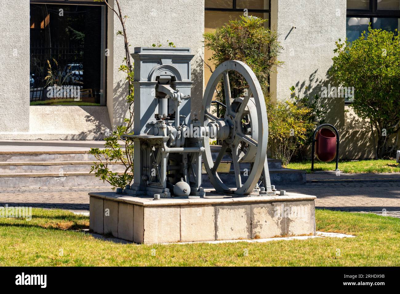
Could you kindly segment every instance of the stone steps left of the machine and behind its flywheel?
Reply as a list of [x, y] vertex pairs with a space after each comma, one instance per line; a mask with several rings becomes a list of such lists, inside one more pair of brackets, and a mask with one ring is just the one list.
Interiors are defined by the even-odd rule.
[[[32, 144], [20, 142], [16, 146], [2, 146], [0, 142], [0, 187], [59, 187], [59, 186], [109, 186], [90, 174], [90, 166], [96, 158], [89, 154], [89, 148], [101, 148], [100, 142], [54, 142], [48, 146], [43, 142]], [[10, 144], [6, 142], [7, 144]], [[67, 144], [68, 146], [62, 146]], [[54, 146], [53, 146], [54, 145]], [[220, 146], [212, 146], [215, 159]], [[218, 172], [227, 185], [235, 185], [232, 159], [224, 156], [225, 172]], [[272, 184], [304, 183], [306, 174], [298, 170], [282, 168], [281, 161], [268, 159]], [[242, 172], [250, 170], [249, 163], [241, 163]], [[112, 165], [113, 172], [124, 172], [125, 167], [117, 162]], [[242, 176], [242, 180], [246, 177]], [[203, 184], [210, 186], [207, 174], [203, 172]]]

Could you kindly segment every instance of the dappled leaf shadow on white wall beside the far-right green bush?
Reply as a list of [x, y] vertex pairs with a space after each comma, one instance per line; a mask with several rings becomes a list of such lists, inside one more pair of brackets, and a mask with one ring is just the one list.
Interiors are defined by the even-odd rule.
[[[300, 95], [322, 96], [322, 87], [330, 88], [336, 86], [328, 72], [325, 78], [318, 78], [318, 70], [314, 71], [308, 81], [296, 83], [296, 90]], [[362, 120], [352, 112], [351, 107], [345, 106], [344, 97], [321, 97], [318, 106], [326, 112], [325, 123], [332, 124], [338, 129], [340, 136], [339, 157], [342, 159], [364, 159], [374, 158], [374, 143], [371, 136], [369, 122]], [[323, 107], [322, 107], [323, 106]], [[308, 157], [311, 150], [308, 148]]]

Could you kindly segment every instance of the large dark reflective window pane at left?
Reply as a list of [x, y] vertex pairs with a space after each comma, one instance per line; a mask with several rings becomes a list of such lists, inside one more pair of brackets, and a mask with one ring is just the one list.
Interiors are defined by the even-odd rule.
[[105, 105], [105, 6], [34, 2], [30, 105]]

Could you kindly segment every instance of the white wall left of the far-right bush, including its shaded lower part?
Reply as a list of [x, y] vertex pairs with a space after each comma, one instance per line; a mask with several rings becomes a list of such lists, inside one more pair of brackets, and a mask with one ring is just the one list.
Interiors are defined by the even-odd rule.
[[[293, 28], [295, 27], [295, 28]], [[346, 0], [272, 0], [271, 29], [283, 46], [284, 65], [271, 75], [272, 99], [288, 100], [291, 86], [300, 96], [321, 95], [322, 86], [336, 86], [328, 75], [335, 41], [346, 38]], [[370, 124], [345, 106], [344, 98], [321, 98], [325, 122], [340, 134], [341, 158], [373, 158]]]

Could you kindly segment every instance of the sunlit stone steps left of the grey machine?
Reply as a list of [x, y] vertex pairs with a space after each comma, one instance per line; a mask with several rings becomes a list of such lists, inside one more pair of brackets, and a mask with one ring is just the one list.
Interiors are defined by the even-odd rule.
[[[0, 187], [110, 186], [89, 173], [90, 166], [97, 162], [89, 149], [102, 148], [104, 142], [6, 144], [10, 143], [0, 142]], [[113, 172], [125, 170], [121, 162], [110, 167]]]

